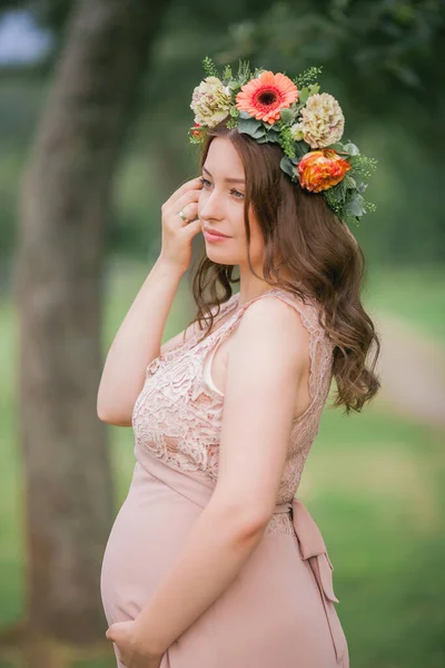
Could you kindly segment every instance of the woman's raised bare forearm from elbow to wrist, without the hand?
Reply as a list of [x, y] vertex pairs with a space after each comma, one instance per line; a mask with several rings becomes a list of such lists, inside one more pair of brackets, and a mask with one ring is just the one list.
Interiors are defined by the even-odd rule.
[[97, 413], [103, 422], [131, 425], [135, 401], [147, 365], [159, 355], [181, 277], [178, 266], [159, 256], [136, 295], [111, 343], [100, 379]]

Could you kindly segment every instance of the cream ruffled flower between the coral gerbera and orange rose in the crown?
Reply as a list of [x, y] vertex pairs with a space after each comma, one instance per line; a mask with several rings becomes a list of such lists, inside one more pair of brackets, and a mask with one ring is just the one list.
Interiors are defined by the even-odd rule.
[[301, 121], [293, 128], [294, 138], [303, 135], [310, 148], [325, 148], [342, 139], [345, 117], [335, 97], [316, 92], [308, 97], [301, 109]]

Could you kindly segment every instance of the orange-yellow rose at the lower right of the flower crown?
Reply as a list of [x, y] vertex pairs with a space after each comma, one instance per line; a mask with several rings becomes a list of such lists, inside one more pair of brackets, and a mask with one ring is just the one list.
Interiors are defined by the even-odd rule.
[[349, 163], [333, 148], [309, 150], [298, 163], [299, 183], [301, 188], [319, 193], [336, 186], [349, 169]]

